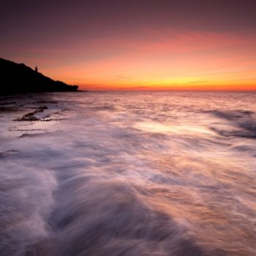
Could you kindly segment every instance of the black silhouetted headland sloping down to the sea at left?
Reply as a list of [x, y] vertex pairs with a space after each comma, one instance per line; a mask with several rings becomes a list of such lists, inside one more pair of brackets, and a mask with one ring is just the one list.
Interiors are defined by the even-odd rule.
[[48, 78], [25, 64], [0, 58], [0, 95], [47, 91], [78, 91], [78, 86], [69, 86]]

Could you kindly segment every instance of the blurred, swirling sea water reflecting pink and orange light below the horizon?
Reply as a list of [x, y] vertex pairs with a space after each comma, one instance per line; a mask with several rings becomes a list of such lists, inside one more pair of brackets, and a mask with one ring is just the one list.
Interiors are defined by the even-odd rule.
[[0, 255], [256, 255], [256, 94], [26, 94], [0, 122]]

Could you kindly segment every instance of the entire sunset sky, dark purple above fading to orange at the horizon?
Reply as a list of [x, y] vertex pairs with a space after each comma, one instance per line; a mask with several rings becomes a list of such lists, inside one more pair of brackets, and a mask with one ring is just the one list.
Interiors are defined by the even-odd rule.
[[80, 89], [256, 91], [255, 10], [255, 0], [9, 0], [0, 57]]

